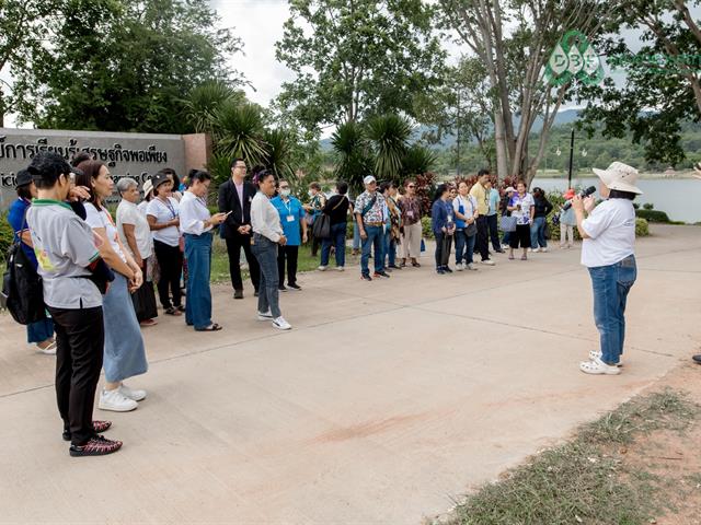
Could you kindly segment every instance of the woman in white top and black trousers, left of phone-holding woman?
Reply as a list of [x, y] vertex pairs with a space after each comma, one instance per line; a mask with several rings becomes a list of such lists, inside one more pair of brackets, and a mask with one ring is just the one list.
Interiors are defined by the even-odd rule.
[[[180, 249], [180, 203], [172, 197], [173, 183], [164, 173], [157, 173], [153, 199], [146, 209], [146, 219], [153, 233], [153, 252], [161, 269], [158, 295], [168, 315], [182, 315], [180, 276], [183, 271], [183, 253]], [[171, 302], [171, 296], [173, 301]]]

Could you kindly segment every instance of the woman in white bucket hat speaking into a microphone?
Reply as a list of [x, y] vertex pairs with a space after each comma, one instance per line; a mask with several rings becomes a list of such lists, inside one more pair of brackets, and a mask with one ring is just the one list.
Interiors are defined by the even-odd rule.
[[[572, 199], [582, 243], [582, 264], [589, 270], [594, 291], [594, 320], [600, 349], [579, 363], [587, 374], [620, 374], [625, 339], [625, 302], [637, 276], [635, 264], [635, 209], [633, 200], [642, 191], [636, 186], [637, 170], [613, 162], [607, 170], [594, 168], [599, 177], [599, 196]], [[586, 217], [588, 215], [588, 217]]]

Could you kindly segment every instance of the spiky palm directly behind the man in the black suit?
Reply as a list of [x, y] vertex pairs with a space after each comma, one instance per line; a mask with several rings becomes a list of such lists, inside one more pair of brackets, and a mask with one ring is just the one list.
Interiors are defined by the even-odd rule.
[[240, 156], [249, 165], [261, 164], [266, 155], [263, 118], [255, 104], [225, 101], [216, 114], [217, 153], [231, 159]]

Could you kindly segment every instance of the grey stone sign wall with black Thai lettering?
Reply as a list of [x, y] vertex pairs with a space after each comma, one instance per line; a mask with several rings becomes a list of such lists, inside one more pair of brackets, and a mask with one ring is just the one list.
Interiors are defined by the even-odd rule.
[[[39, 151], [55, 151], [67, 161], [87, 151], [108, 166], [115, 184], [122, 177], [131, 177], [141, 185], [164, 167], [172, 167], [181, 177], [186, 168], [203, 167], [208, 153], [195, 151], [197, 159], [187, 162], [185, 143], [206, 144], [206, 140], [204, 136], [0, 128], [0, 210], [16, 198], [16, 172]], [[193, 148], [188, 150], [192, 156]]]

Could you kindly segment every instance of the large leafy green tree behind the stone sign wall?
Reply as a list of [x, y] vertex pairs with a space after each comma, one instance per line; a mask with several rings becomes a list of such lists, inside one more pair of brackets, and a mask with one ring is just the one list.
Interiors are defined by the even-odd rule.
[[192, 88], [240, 82], [226, 61], [241, 43], [207, 0], [66, 0], [47, 26], [14, 85], [39, 127], [183, 132]]

